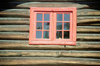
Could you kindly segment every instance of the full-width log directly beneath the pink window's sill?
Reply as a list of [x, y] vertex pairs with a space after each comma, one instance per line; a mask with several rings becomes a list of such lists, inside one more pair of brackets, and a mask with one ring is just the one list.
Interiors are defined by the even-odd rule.
[[29, 45], [28, 40], [0, 40], [0, 49], [34, 50], [97, 50], [100, 49], [98, 41], [77, 41], [76, 46], [69, 45]]

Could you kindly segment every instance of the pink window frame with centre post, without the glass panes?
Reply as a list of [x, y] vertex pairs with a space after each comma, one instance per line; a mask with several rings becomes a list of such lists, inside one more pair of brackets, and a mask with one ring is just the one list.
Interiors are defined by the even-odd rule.
[[[50, 13], [49, 39], [36, 39], [36, 13]], [[70, 39], [56, 39], [56, 13], [70, 13]], [[54, 18], [54, 19], [52, 19]], [[54, 29], [52, 29], [54, 28]], [[31, 7], [30, 8], [30, 31], [29, 45], [76, 45], [76, 7], [50, 8]], [[42, 35], [43, 36], [43, 35]]]

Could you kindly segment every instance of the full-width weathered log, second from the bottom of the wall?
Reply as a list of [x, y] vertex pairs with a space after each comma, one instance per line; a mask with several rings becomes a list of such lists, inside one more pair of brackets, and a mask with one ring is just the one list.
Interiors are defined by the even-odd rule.
[[71, 50], [0, 50], [0, 57], [93, 57], [100, 58], [100, 51]]

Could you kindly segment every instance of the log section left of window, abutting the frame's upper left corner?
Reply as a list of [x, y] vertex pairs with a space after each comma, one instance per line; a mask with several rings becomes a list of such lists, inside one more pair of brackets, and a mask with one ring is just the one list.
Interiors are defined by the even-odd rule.
[[29, 17], [29, 9], [0, 9], [0, 16]]

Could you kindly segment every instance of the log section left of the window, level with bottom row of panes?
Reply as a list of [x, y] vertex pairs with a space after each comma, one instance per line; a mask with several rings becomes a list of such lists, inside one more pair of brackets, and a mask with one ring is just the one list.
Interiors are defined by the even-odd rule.
[[0, 32], [0, 39], [28, 39], [28, 32]]

